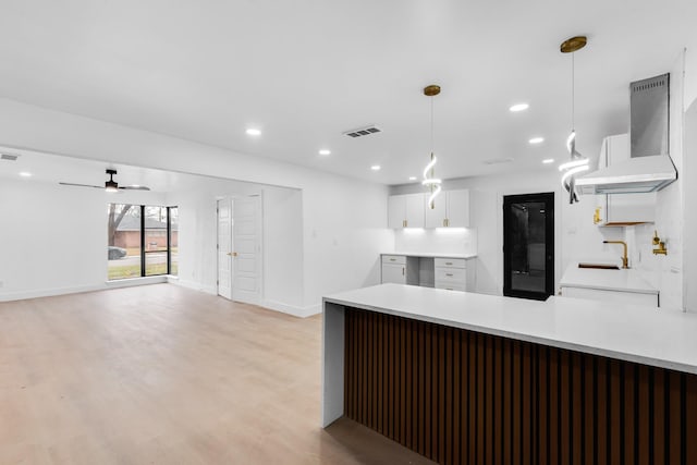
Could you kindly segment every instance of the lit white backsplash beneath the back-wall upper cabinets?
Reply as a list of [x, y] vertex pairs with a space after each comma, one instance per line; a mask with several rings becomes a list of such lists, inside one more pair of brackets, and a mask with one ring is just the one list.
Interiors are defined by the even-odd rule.
[[476, 254], [477, 230], [472, 228], [404, 229], [394, 232], [396, 252]]

